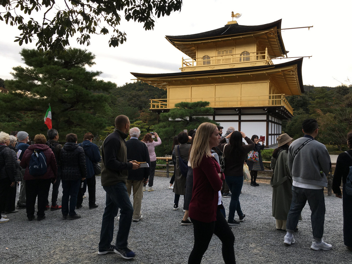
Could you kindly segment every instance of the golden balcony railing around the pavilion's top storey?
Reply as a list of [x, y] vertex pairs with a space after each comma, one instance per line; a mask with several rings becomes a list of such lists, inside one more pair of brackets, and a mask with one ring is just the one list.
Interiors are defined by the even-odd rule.
[[201, 58], [184, 59], [182, 57], [182, 68], [183, 67], [195, 67], [195, 66], [207, 66], [207, 65], [219, 65], [229, 63], [255, 63], [264, 62], [265, 64], [272, 65], [272, 60], [268, 55], [268, 48], [265, 51], [246, 52], [238, 54], [224, 54], [219, 56], [204, 56]]

